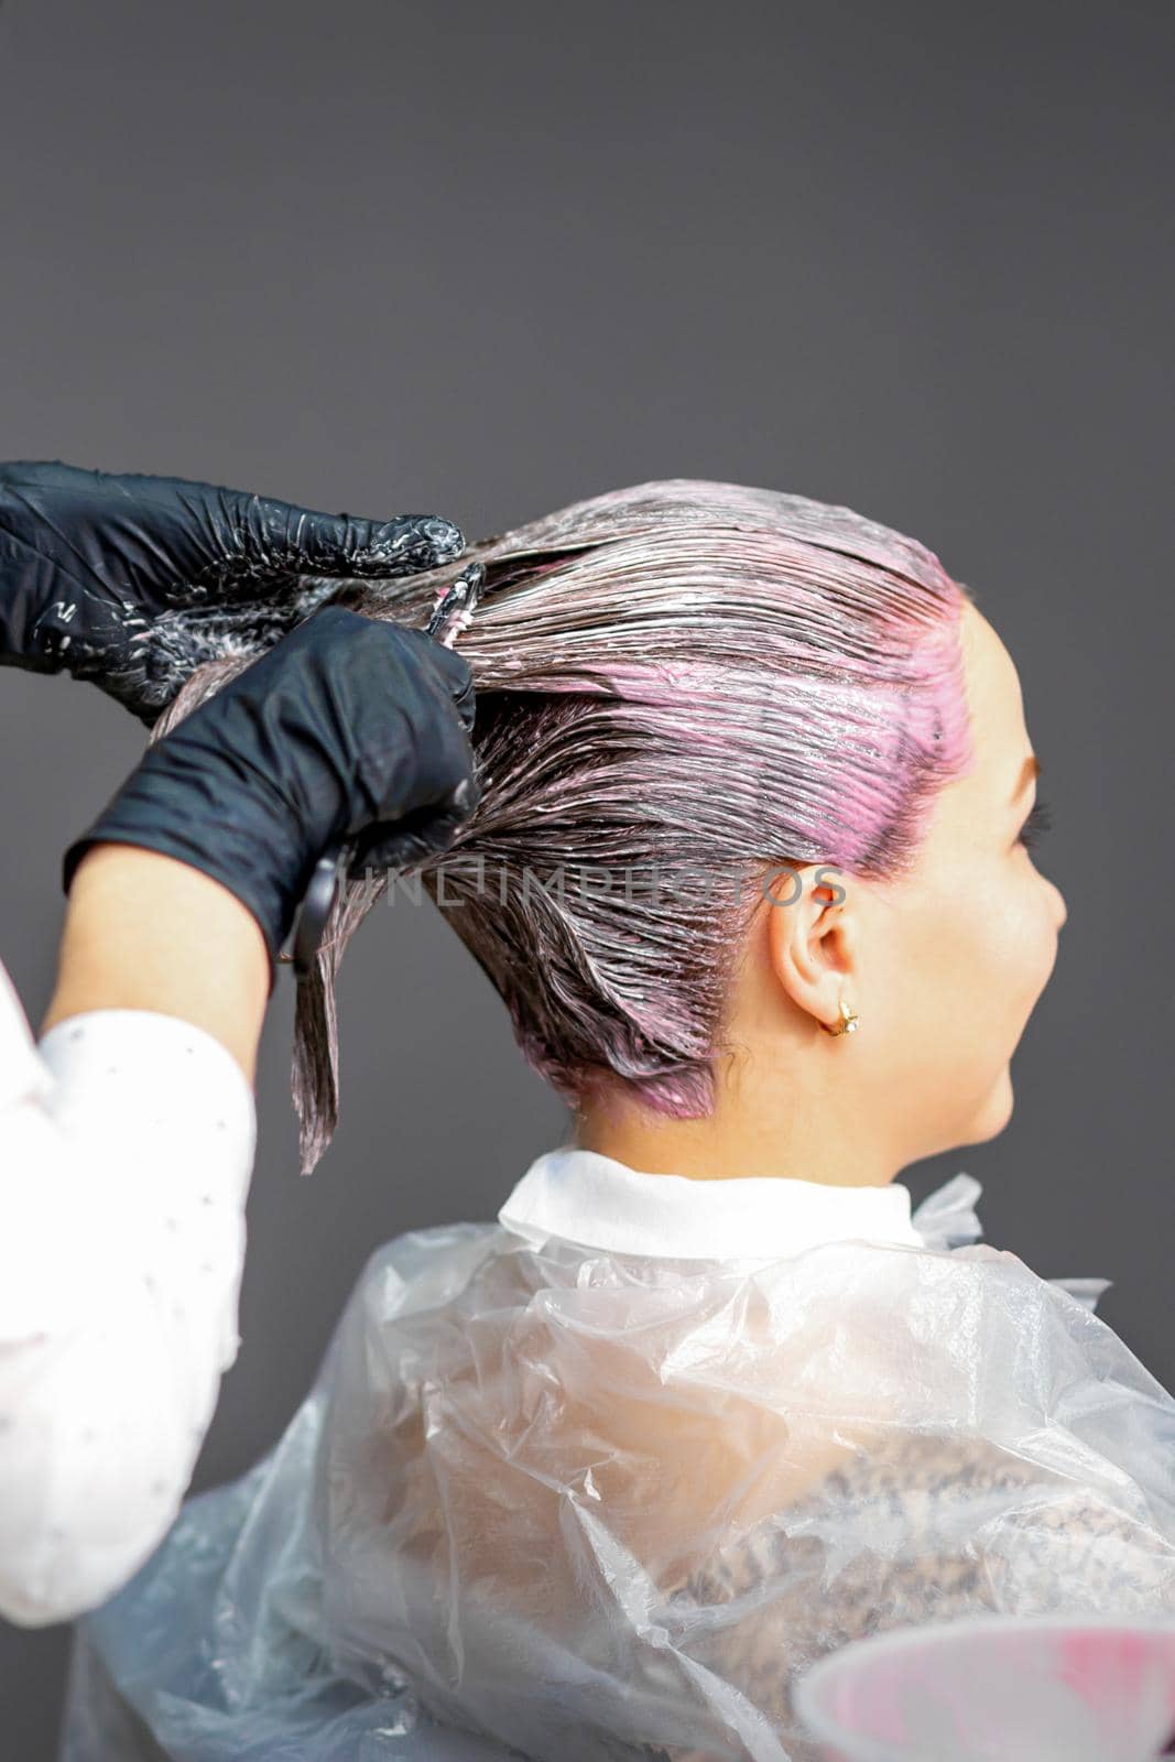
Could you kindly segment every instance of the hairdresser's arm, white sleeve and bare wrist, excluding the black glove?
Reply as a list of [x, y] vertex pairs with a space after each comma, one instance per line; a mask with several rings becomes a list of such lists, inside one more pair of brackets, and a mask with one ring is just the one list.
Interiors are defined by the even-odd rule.
[[95, 844], [41, 1045], [14, 997], [0, 1018], [0, 1614], [21, 1626], [122, 1589], [188, 1489], [240, 1344], [268, 976], [215, 881]]

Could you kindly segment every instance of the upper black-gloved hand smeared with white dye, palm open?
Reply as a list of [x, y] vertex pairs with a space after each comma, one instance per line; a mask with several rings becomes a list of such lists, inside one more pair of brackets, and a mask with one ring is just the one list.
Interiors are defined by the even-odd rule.
[[261, 654], [329, 580], [460, 557], [437, 515], [382, 525], [181, 478], [0, 463], [0, 666], [72, 673], [148, 726], [204, 661]]

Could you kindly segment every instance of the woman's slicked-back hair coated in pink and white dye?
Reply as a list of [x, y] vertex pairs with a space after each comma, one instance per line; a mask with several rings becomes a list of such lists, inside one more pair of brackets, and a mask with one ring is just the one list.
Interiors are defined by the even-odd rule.
[[[481, 800], [423, 883], [565, 1099], [620, 1084], [705, 1115], [761, 881], [787, 863], [900, 876], [969, 766], [971, 596], [847, 507], [675, 478], [336, 597], [419, 627], [474, 560], [483, 603], [456, 648]], [[241, 664], [203, 668], [160, 728]], [[299, 994], [303, 1168], [335, 1122], [338, 959], [384, 886], [347, 886]]]

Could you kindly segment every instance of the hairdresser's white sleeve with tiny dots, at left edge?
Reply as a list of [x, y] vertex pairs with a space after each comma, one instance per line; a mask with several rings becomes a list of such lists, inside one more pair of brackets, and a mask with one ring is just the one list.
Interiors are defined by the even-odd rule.
[[252, 1089], [148, 1010], [41, 1047], [0, 967], [0, 1616], [69, 1621], [162, 1542], [240, 1344]]

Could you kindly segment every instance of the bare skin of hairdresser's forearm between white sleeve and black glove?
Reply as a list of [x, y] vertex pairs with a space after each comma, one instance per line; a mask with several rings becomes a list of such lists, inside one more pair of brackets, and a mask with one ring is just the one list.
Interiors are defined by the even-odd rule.
[[252, 1082], [268, 996], [257, 920], [218, 881], [127, 844], [85, 856], [42, 1033], [86, 1010], [155, 1010], [204, 1029]]

